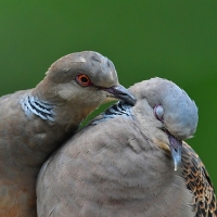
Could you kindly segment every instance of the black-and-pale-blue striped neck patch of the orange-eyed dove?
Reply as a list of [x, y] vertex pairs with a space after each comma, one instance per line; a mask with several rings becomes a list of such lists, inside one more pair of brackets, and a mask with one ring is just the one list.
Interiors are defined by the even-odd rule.
[[47, 102], [42, 102], [33, 95], [26, 95], [21, 100], [21, 104], [22, 108], [28, 117], [35, 114], [41, 119], [54, 122], [55, 113], [53, 112], [53, 105]]

